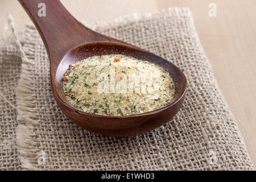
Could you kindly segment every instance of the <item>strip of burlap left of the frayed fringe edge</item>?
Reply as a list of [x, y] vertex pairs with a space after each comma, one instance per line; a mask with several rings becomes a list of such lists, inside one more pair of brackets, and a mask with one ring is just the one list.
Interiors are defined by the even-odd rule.
[[[21, 57], [18, 46], [0, 40], [0, 171], [21, 169], [15, 144], [16, 86], [19, 81]], [[11, 104], [10, 104], [11, 103]]]

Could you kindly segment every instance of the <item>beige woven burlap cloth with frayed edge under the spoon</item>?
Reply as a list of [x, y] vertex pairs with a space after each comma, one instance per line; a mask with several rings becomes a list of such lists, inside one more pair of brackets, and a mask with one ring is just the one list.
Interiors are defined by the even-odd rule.
[[1, 170], [254, 169], [189, 9], [86, 26], [177, 65], [188, 80], [179, 113], [138, 137], [106, 137], [77, 127], [53, 99], [47, 53], [38, 31], [28, 24], [22, 38], [1, 40]]

